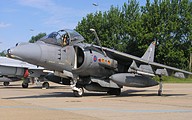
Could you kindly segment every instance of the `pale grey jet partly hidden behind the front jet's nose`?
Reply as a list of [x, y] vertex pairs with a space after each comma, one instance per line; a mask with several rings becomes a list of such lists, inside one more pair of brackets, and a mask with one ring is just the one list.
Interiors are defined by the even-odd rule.
[[[43, 72], [44, 68], [37, 67], [20, 60], [0, 57], [0, 82], [4, 86], [8, 86], [10, 82], [19, 81], [23, 79], [22, 87], [27, 88], [29, 79], [38, 78], [39, 81], [45, 81], [44, 76], [47, 73]], [[44, 82], [43, 87], [48, 88], [49, 83]]]

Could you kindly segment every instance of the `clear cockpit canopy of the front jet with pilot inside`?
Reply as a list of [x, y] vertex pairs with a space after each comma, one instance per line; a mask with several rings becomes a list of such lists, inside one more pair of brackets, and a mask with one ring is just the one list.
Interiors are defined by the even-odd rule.
[[84, 37], [75, 30], [64, 29], [58, 32], [52, 32], [47, 36], [42, 37], [38, 41], [43, 41], [48, 44], [59, 46], [73, 45], [84, 40]]

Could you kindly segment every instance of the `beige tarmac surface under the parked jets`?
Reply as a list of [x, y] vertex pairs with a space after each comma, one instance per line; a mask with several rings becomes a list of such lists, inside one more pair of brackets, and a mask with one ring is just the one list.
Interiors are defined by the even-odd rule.
[[69, 86], [50, 83], [21, 88], [20, 82], [0, 83], [0, 120], [184, 120], [192, 118], [192, 84], [164, 84], [122, 89], [118, 97], [85, 91], [74, 97]]

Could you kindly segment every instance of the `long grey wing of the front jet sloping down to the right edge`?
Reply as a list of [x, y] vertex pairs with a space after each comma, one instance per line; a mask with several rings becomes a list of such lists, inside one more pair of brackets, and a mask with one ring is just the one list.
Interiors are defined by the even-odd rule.
[[[119, 52], [117, 50], [113, 50], [113, 49], [109, 49], [109, 48], [106, 48], [106, 47], [103, 47], [103, 50], [106, 52], [106, 54], [117, 60], [117, 61], [120, 61], [121, 63], [125, 64], [125, 65], [130, 65], [131, 62], [135, 61], [137, 63], [137, 65], [141, 65], [141, 64], [146, 64], [146, 65], [151, 65], [153, 69], [166, 69], [167, 71], [175, 71], [175, 72], [182, 72], [184, 74], [189, 74], [189, 75], [192, 75], [192, 72], [188, 72], [188, 71], [185, 71], [185, 70], [181, 70], [181, 69], [178, 69], [178, 68], [175, 68], [175, 67], [171, 67], [171, 66], [167, 66], [167, 65], [163, 65], [163, 64], [159, 64], [159, 63], [156, 63], [156, 62], [151, 62], [151, 61], [147, 61], [147, 60], [144, 60], [140, 57], [136, 57], [136, 56], [133, 56], [133, 55], [130, 55], [130, 54], [126, 54], [126, 53], [123, 53], [123, 52]], [[128, 63], [128, 64], [126, 64]]]

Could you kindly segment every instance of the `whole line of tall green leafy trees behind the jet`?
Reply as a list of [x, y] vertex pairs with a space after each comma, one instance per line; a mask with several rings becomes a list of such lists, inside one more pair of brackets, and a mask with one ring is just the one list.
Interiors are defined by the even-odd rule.
[[140, 6], [128, 0], [122, 7], [87, 14], [76, 30], [86, 42], [93, 41], [94, 28], [103, 46], [141, 57], [148, 45], [156, 41], [155, 61], [189, 69], [192, 52], [192, 1], [146, 0]]

